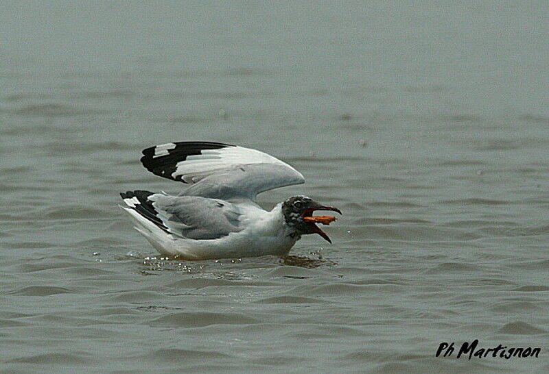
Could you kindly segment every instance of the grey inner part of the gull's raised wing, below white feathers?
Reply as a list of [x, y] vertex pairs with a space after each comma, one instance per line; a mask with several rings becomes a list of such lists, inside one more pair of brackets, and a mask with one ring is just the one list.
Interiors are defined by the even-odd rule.
[[209, 175], [201, 179], [200, 182], [189, 186], [181, 195], [255, 201], [259, 192], [304, 182], [303, 175], [291, 166], [248, 164]]

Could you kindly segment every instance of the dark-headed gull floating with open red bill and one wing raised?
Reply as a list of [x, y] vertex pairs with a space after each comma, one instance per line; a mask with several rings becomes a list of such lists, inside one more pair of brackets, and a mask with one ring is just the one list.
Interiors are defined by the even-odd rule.
[[163, 255], [185, 260], [287, 255], [304, 234], [330, 238], [316, 223], [333, 216], [312, 216], [338, 208], [299, 195], [270, 211], [257, 194], [302, 184], [292, 166], [267, 153], [219, 142], [172, 142], [143, 150], [145, 168], [187, 184], [177, 196], [134, 190], [121, 193], [135, 229]]

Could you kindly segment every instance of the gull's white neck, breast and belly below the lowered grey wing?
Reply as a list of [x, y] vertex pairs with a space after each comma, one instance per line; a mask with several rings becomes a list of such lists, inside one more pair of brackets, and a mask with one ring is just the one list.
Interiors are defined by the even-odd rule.
[[292, 234], [281, 212], [281, 204], [270, 212], [257, 205], [240, 206], [246, 227], [216, 239], [194, 240], [167, 234], [130, 208], [124, 208], [136, 223], [135, 229], [163, 255], [178, 255], [187, 260], [245, 258], [261, 255], [287, 255], [301, 236]]

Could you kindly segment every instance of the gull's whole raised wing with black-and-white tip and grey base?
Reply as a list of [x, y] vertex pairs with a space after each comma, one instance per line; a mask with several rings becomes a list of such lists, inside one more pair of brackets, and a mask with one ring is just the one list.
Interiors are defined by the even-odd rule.
[[152, 173], [191, 184], [181, 195], [251, 199], [259, 192], [305, 182], [292, 166], [267, 153], [216, 142], [174, 142], [143, 151]]

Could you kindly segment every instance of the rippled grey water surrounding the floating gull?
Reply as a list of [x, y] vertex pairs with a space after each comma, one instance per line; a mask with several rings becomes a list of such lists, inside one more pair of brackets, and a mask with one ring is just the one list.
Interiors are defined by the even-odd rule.
[[[1, 373], [549, 371], [545, 1], [0, 5]], [[270, 153], [344, 215], [163, 259], [165, 142]], [[435, 357], [441, 342], [538, 358]]]

